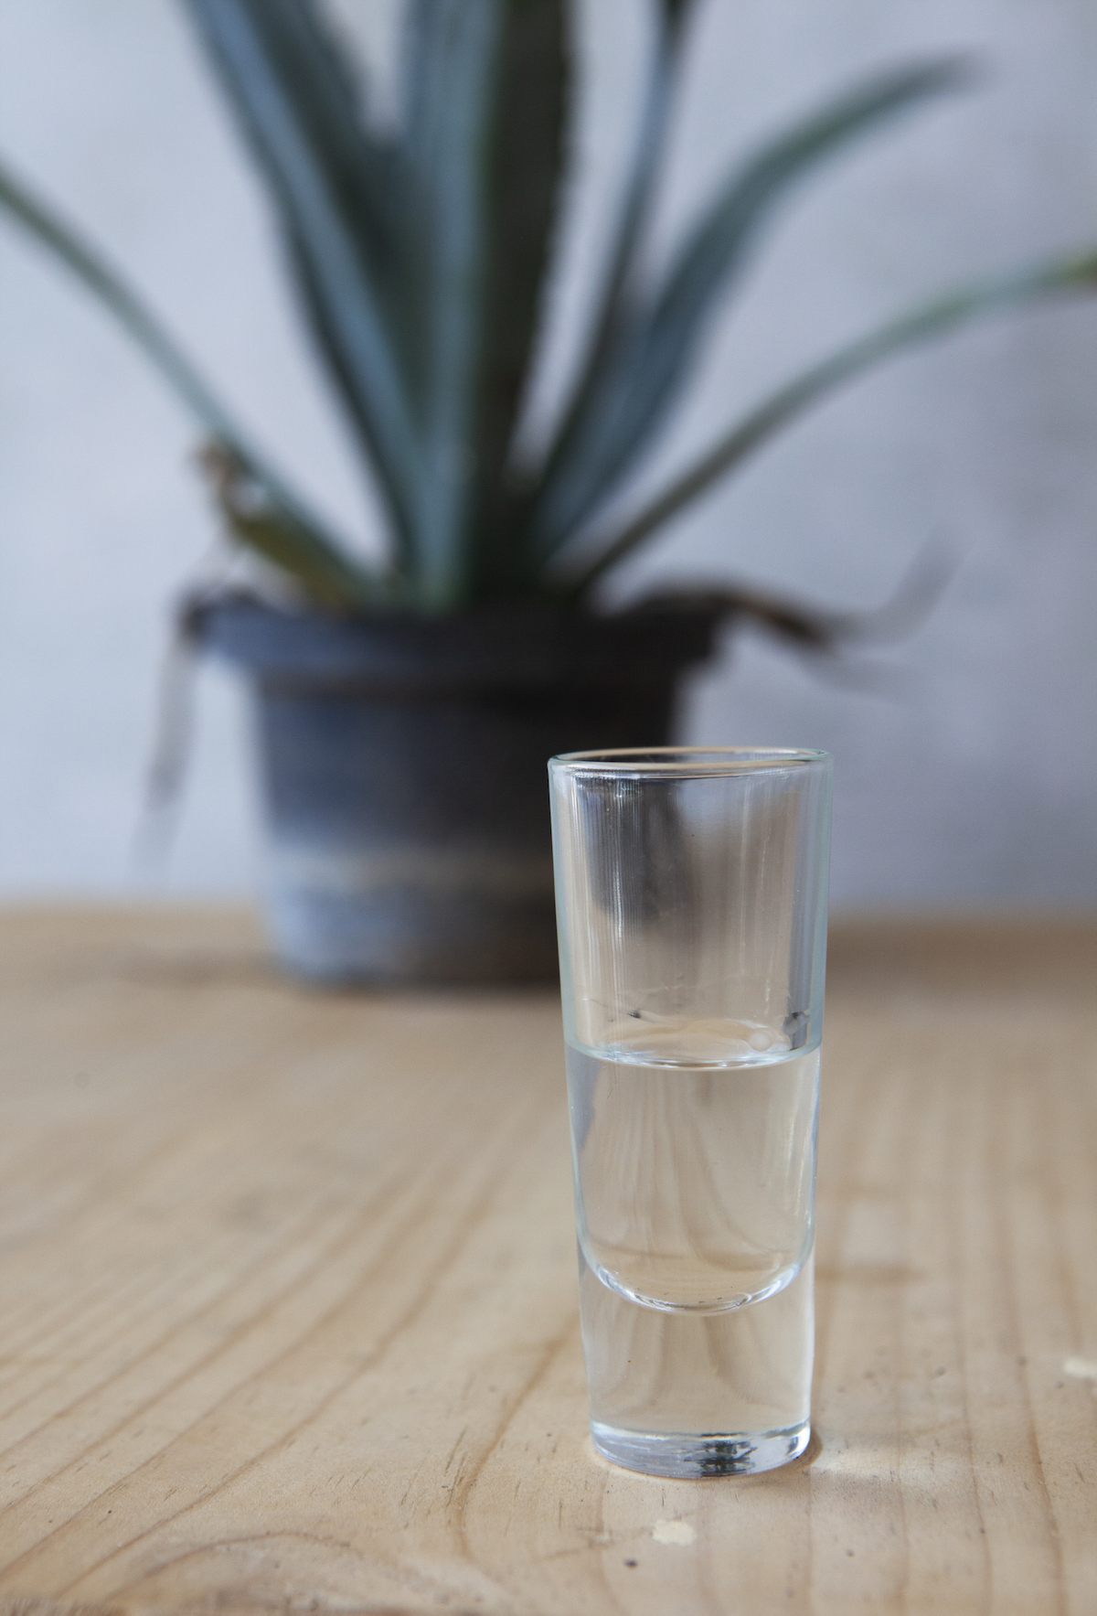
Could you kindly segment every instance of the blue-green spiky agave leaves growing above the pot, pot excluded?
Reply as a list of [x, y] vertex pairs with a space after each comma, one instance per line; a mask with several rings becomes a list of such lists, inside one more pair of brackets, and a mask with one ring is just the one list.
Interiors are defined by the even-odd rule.
[[955, 89], [966, 66], [903, 65], [780, 131], [733, 168], [651, 284], [641, 254], [693, 10], [651, 0], [658, 37], [590, 341], [532, 462], [515, 436], [562, 194], [567, 0], [407, 0], [396, 133], [372, 116], [317, 0], [183, 3], [270, 187], [317, 352], [383, 494], [388, 564], [339, 543], [123, 278], [3, 170], [0, 202], [142, 343], [204, 428], [229, 532], [320, 608], [580, 603], [607, 567], [885, 356], [1007, 304], [1097, 288], [1097, 252], [1082, 252], [937, 296], [780, 385], [614, 527], [611, 496], [667, 425], [706, 323], [779, 204], [858, 137]]

